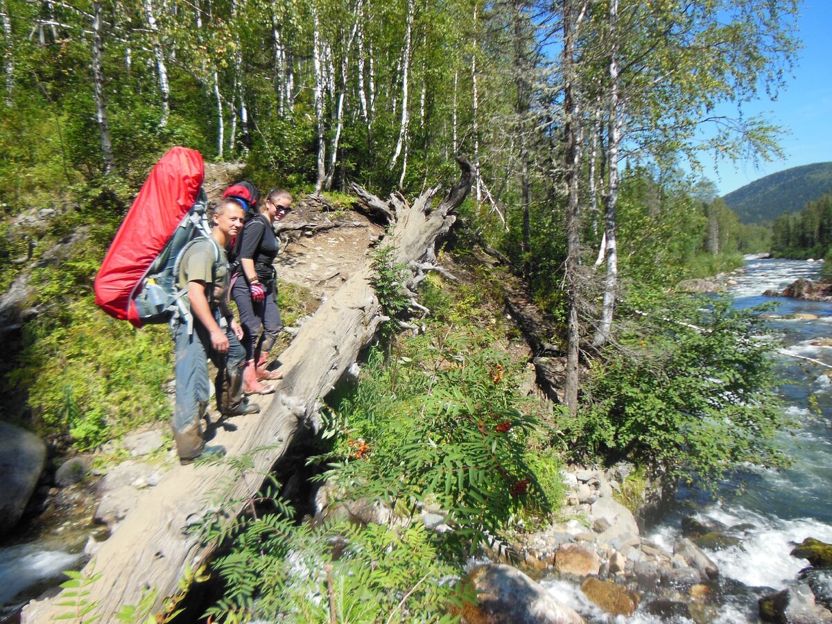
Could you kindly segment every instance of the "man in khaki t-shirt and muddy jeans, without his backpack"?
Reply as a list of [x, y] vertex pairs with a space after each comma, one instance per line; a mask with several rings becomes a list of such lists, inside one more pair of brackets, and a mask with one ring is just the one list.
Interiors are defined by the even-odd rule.
[[[224, 453], [222, 447], [207, 447], [202, 434], [210, 389], [208, 366], [216, 366], [217, 409], [224, 417], [256, 414], [260, 406], [242, 394], [245, 349], [243, 330], [228, 306], [229, 269], [225, 247], [243, 226], [244, 212], [229, 198], [220, 200], [212, 216], [210, 237], [194, 240], [184, 251], [176, 275], [177, 286], [186, 289], [190, 318], [171, 321], [176, 344], [176, 407], [173, 433], [181, 463], [191, 463], [204, 453]], [[191, 326], [192, 325], [192, 326]]]

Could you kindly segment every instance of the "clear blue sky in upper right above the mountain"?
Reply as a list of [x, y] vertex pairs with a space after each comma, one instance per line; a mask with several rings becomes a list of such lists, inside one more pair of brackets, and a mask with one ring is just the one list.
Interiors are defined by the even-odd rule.
[[800, 9], [798, 52], [794, 77], [787, 80], [775, 102], [768, 97], [751, 102], [749, 113], [764, 113], [788, 132], [780, 141], [782, 160], [717, 163], [703, 175], [716, 183], [721, 195], [770, 173], [813, 162], [832, 161], [832, 0], [805, 0]]

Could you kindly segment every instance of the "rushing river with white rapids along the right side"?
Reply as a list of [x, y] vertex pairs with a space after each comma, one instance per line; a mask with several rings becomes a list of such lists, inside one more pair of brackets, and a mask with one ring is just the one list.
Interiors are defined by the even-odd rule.
[[[740, 308], [775, 302], [778, 307], [770, 326], [779, 334], [784, 350], [832, 364], [832, 303], [762, 295], [768, 289], [783, 290], [799, 277], [816, 278], [821, 267], [820, 262], [749, 260], [730, 295]], [[797, 319], [795, 314], [818, 318]], [[795, 542], [806, 537], [832, 542], [832, 384], [827, 374], [832, 369], [786, 354], [776, 356], [776, 365], [784, 409], [797, 422], [794, 432], [780, 436], [795, 460], [793, 466], [781, 471], [746, 469], [721, 484], [719, 501], [695, 489], [683, 489], [661, 522], [645, 532], [651, 541], [672, 552], [684, 516], [737, 527], [728, 532], [739, 540], [735, 546], [708, 552], [721, 572], [718, 604], [708, 622], [760, 622], [756, 600], [770, 592], [762, 587], [782, 589], [806, 565], [805, 560], [790, 557]], [[588, 622], [665, 622], [641, 610], [632, 617], [607, 616], [585, 601], [577, 587], [566, 582], [546, 584]], [[669, 621], [691, 622], [680, 617]]]

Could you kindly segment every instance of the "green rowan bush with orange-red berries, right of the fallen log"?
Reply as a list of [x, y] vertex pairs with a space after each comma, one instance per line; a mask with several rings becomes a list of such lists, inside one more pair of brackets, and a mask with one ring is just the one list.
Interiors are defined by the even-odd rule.
[[488, 348], [494, 339], [449, 327], [399, 344], [388, 366], [374, 354], [330, 423], [337, 483], [409, 516], [420, 502], [438, 503], [458, 527], [448, 540], [463, 550], [523, 507], [549, 509], [556, 501], [547, 493], [559, 494], [550, 475], [544, 487], [529, 466], [527, 442], [539, 423], [518, 409], [516, 370]]

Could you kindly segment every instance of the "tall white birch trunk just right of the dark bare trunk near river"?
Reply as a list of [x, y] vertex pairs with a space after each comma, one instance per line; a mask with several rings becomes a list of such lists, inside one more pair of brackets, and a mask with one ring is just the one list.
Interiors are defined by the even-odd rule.
[[622, 136], [622, 116], [619, 102], [618, 70], [618, 0], [610, 0], [609, 34], [612, 40], [610, 51], [610, 120], [609, 141], [607, 141], [607, 197], [605, 203], [605, 234], [607, 237], [607, 278], [604, 281], [604, 299], [601, 320], [592, 343], [600, 346], [609, 339], [612, 330], [612, 316], [616, 305], [618, 287], [618, 250], [616, 247], [616, 206], [618, 201], [618, 148]]

